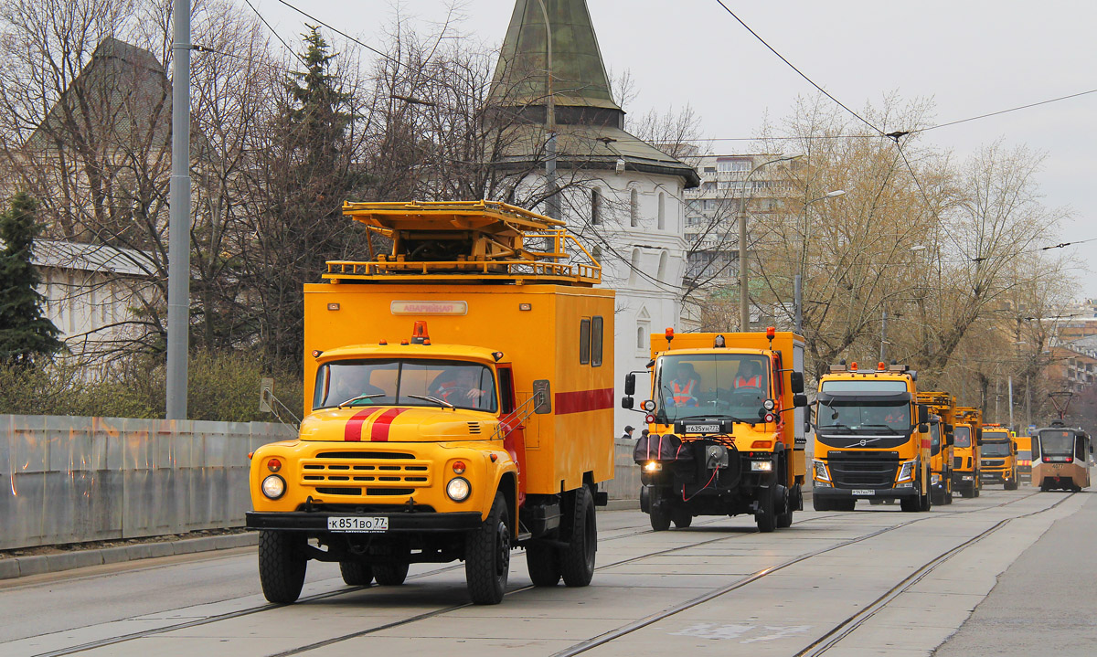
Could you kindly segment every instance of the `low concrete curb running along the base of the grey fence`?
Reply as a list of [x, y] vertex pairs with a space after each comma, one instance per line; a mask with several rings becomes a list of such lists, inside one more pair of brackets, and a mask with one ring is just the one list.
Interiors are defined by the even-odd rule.
[[23, 556], [11, 559], [0, 559], [0, 579], [15, 579], [31, 575], [59, 573], [73, 568], [118, 564], [155, 557], [194, 554], [234, 547], [250, 547], [259, 544], [258, 532], [244, 534], [225, 534], [222, 536], [202, 536], [201, 539], [182, 539], [159, 543], [138, 543], [121, 547], [102, 547], [98, 550], [79, 550], [61, 554], [44, 554], [39, 556]]

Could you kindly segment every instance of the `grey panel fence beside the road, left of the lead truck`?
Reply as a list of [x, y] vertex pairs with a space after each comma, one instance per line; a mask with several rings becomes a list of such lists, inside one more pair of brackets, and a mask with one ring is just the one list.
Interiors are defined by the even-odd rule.
[[0, 416], [0, 550], [239, 526], [265, 422]]

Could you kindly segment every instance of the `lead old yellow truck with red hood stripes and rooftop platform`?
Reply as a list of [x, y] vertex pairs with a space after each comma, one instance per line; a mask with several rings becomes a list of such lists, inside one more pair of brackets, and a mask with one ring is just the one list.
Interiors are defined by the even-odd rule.
[[309, 559], [357, 586], [461, 559], [494, 604], [516, 546], [535, 585], [586, 586], [613, 477], [601, 268], [562, 222], [502, 203], [343, 213], [391, 249], [371, 239], [305, 286], [308, 415], [251, 460], [263, 594], [295, 601]]

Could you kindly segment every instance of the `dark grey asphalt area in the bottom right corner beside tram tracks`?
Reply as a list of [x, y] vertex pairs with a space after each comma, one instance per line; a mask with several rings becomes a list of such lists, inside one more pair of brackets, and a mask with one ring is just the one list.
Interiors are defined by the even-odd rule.
[[1097, 492], [1058, 520], [998, 576], [991, 593], [937, 657], [1097, 653]]

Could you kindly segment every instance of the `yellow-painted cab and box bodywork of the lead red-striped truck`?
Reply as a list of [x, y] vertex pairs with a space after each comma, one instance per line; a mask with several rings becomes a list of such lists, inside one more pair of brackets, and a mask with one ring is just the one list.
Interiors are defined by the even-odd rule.
[[[602, 318], [600, 365], [580, 363], [579, 358], [581, 322], [595, 317]], [[411, 338], [416, 320], [427, 322], [431, 343], [402, 346]], [[314, 356], [314, 351], [320, 355]], [[502, 352], [498, 364], [495, 352]], [[349, 505], [400, 505], [410, 497], [439, 512], [477, 510], [487, 517], [500, 480], [517, 473], [520, 465], [504, 445], [501, 412], [430, 406], [408, 408], [391, 418], [380, 410], [370, 416], [365, 411], [372, 408], [362, 406], [310, 411], [320, 364], [384, 356], [467, 360], [493, 369], [509, 363], [519, 407], [533, 396], [534, 381], [547, 381], [552, 412], [528, 417], [523, 427], [524, 454], [517, 458], [520, 462], [524, 457], [527, 495], [576, 489], [584, 485], [585, 475], [593, 483], [613, 477], [612, 291], [446, 281], [318, 283], [305, 286], [307, 415], [301, 439], [264, 445], [256, 452], [251, 471], [256, 511], [294, 511], [308, 497], [314, 502]], [[357, 414], [360, 418], [353, 420]], [[348, 442], [348, 432], [360, 440]], [[382, 434], [384, 440], [378, 441]], [[340, 452], [397, 453], [406, 457], [317, 461], [318, 454]], [[286, 494], [278, 500], [259, 492], [262, 478], [269, 474], [264, 464], [272, 456], [282, 461], [280, 474], [287, 483]], [[471, 482], [473, 491], [460, 503], [444, 492], [457, 460], [466, 464], [463, 476]], [[382, 464], [400, 469], [391, 471], [395, 473], [391, 475], [393, 480], [374, 479], [362, 485], [374, 489], [373, 495], [332, 496], [317, 490], [354, 484], [331, 478], [346, 474], [340, 474], [340, 466], [367, 468]], [[362, 472], [370, 476], [377, 471]], [[376, 495], [386, 486], [399, 492]], [[414, 490], [411, 495], [409, 489]]]

